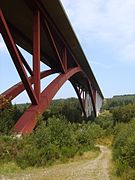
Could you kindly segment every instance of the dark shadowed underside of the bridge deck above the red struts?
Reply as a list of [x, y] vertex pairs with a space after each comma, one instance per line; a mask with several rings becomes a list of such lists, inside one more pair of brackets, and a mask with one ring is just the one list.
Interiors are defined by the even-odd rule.
[[[29, 2], [29, 3], [28, 3]], [[81, 49], [81, 46], [75, 36], [75, 33], [65, 16], [65, 12], [58, 0], [54, 0], [51, 3], [48, 0], [39, 0], [43, 10], [46, 12], [46, 15], [51, 20], [51, 26], [54, 26], [54, 29], [57, 29], [57, 34], [55, 33], [55, 38], [59, 49], [61, 49], [61, 42], [59, 41], [59, 35], [63, 38], [66, 46], [69, 51], [75, 57], [77, 63], [81, 66], [83, 71], [88, 75], [91, 80], [91, 84], [95, 89], [98, 89], [101, 96], [102, 93], [100, 88], [95, 80], [95, 77], [92, 73], [92, 70], [85, 58], [85, 55]], [[33, 27], [33, 9], [34, 1], [27, 0], [1, 0], [0, 7], [6, 17], [8, 25], [10, 27], [11, 34], [20, 47], [24, 48], [26, 51], [32, 54], [32, 27]], [[51, 27], [52, 28], [52, 27]], [[69, 67], [74, 67], [75, 62], [73, 56], [69, 53], [68, 64]], [[44, 33], [43, 26], [41, 24], [41, 60], [50, 67], [59, 68], [59, 62], [57, 57], [52, 50], [50, 42]], [[82, 74], [78, 74], [73, 79], [75, 82], [79, 83], [83, 87], [87, 88], [87, 83], [85, 84], [85, 77]]]

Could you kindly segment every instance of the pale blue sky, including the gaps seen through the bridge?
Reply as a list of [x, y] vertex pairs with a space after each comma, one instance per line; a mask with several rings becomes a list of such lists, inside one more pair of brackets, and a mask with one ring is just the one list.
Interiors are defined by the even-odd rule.
[[[135, 93], [135, 1], [61, 0], [105, 97]], [[23, 51], [25, 58], [32, 57]], [[43, 66], [41, 66], [43, 68]], [[0, 36], [0, 93], [19, 81]], [[50, 78], [42, 84], [48, 84]], [[76, 96], [66, 83], [55, 98]], [[21, 95], [14, 102], [28, 101]]]

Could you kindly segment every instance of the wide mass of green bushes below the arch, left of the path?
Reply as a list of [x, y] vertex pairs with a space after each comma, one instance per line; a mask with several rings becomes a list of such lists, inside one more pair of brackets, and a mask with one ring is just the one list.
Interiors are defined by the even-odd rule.
[[99, 125], [71, 124], [64, 117], [51, 117], [47, 125], [40, 121], [34, 133], [27, 137], [1, 137], [0, 161], [15, 161], [21, 168], [45, 166], [95, 149], [96, 139], [102, 136]]

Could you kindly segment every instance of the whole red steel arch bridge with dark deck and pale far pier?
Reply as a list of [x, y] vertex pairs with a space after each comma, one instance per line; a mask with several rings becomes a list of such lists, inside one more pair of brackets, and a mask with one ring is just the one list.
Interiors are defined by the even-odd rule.
[[[37, 117], [67, 80], [78, 95], [83, 114], [99, 114], [102, 92], [59, 0], [0, 0], [0, 33], [21, 78], [1, 94], [0, 109], [24, 90], [31, 100], [15, 124], [15, 132], [31, 133]], [[32, 55], [33, 68], [17, 45]], [[49, 70], [41, 72], [40, 61]], [[41, 92], [41, 79], [54, 73], [59, 75]]]

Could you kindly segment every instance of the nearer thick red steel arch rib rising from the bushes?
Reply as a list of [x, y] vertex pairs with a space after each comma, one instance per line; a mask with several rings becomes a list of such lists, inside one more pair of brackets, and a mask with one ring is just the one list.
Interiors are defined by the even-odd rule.
[[49, 106], [61, 86], [74, 74], [81, 71], [80, 67], [69, 69], [65, 74], [60, 74], [41, 93], [38, 105], [31, 105], [14, 126], [14, 131], [22, 134], [31, 133], [37, 123], [37, 117]]

